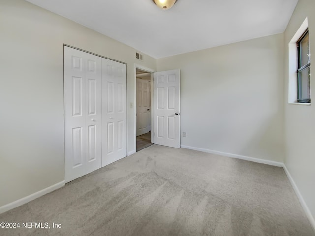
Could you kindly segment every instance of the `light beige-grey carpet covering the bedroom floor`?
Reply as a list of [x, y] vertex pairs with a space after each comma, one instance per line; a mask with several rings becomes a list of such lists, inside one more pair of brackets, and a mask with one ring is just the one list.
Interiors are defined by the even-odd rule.
[[0, 215], [1, 236], [314, 236], [283, 168], [152, 145]]

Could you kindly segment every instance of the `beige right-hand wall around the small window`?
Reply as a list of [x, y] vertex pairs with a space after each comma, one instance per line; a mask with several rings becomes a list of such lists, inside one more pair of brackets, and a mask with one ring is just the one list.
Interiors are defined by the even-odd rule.
[[[315, 1], [299, 0], [285, 30], [285, 166], [315, 219], [315, 66], [311, 65], [311, 106], [288, 104], [288, 44], [308, 17], [311, 63], [315, 62]], [[314, 225], [315, 227], [315, 225]]]

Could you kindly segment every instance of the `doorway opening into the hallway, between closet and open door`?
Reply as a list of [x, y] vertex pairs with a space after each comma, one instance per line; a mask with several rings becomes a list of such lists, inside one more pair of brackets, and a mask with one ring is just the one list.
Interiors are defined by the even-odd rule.
[[151, 72], [136, 68], [136, 151], [151, 146]]

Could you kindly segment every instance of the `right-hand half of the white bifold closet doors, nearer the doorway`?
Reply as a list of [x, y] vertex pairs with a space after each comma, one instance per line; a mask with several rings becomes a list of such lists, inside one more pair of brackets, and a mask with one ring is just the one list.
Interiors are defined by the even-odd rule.
[[102, 58], [102, 165], [127, 156], [126, 64]]

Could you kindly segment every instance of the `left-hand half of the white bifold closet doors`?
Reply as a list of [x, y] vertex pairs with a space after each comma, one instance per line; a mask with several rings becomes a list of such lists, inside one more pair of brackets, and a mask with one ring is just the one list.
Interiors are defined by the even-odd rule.
[[101, 164], [101, 58], [64, 46], [65, 180]]

